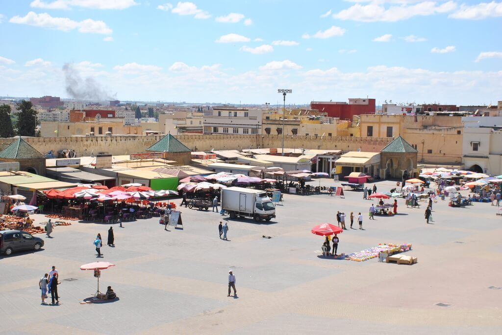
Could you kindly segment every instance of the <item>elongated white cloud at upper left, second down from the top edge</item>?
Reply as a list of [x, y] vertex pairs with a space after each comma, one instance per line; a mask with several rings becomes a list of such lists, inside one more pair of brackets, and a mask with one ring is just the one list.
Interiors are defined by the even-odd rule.
[[112, 30], [103, 21], [86, 19], [80, 22], [68, 18], [54, 18], [47, 13], [37, 14], [29, 12], [26, 16], [15, 16], [9, 20], [10, 23], [56, 29], [64, 32], [77, 29], [80, 33], [94, 33], [109, 35]]

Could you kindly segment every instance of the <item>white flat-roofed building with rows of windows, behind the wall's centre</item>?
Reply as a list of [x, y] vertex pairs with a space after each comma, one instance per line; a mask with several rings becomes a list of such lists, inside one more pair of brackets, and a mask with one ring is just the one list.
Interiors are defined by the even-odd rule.
[[215, 108], [211, 112], [204, 115], [204, 134], [254, 135], [262, 133], [263, 110]]

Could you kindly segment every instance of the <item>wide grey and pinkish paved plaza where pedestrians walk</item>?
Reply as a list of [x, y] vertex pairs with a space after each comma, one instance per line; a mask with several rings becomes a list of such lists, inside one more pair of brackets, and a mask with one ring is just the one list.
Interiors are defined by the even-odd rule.
[[[319, 183], [336, 185], [327, 179], [311, 182]], [[389, 191], [396, 182], [376, 186]], [[56, 227], [54, 238], [39, 234], [45, 240], [42, 250], [0, 256], [0, 333], [500, 333], [497, 207], [451, 208], [439, 200], [434, 221], [426, 224], [425, 206], [406, 208], [404, 199], [398, 200], [399, 215], [374, 221], [368, 220], [368, 208], [376, 201], [363, 200], [362, 192], [345, 191], [345, 198], [285, 195], [284, 200], [271, 222], [228, 219], [228, 241], [219, 239], [217, 227], [227, 216], [184, 207], [183, 229], [164, 231], [158, 218], [124, 222], [124, 228], [113, 224], [115, 247], [103, 246], [103, 258], [96, 258], [93, 240], [99, 232], [105, 242], [109, 224], [73, 221]], [[335, 223], [337, 210], [361, 212], [365, 229], [340, 234], [338, 253], [411, 243], [407, 254], [418, 263], [323, 258], [324, 238], [310, 229]], [[46, 221], [34, 217], [36, 223]], [[97, 282], [92, 271], [79, 267], [96, 260], [116, 264], [102, 270], [100, 289], [111, 285], [119, 299], [80, 304]], [[38, 281], [51, 265], [62, 282], [59, 306], [40, 304]], [[238, 297], [227, 297], [229, 269]]]

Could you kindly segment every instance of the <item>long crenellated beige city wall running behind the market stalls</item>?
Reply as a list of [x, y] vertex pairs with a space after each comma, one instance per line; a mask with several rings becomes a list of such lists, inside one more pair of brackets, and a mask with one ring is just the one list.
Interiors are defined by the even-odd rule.
[[[57, 154], [64, 149], [72, 149], [77, 156], [90, 156], [99, 153], [127, 155], [143, 152], [163, 136], [94, 136], [94, 137], [29, 137], [25, 140], [43, 154], [50, 150]], [[281, 148], [281, 135], [178, 135], [176, 136], [193, 151], [231, 150], [249, 148]], [[335, 149], [344, 151], [380, 151], [391, 138], [367, 137], [321, 137], [285, 136], [286, 148]], [[0, 139], [0, 150], [14, 141], [12, 138]]]

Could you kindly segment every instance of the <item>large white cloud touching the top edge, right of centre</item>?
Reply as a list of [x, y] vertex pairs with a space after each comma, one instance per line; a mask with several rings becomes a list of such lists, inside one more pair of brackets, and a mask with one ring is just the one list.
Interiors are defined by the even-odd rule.
[[457, 4], [448, 1], [438, 5], [434, 1], [422, 1], [413, 5], [413, 1], [393, 2], [398, 5], [386, 7], [385, 2], [371, 2], [368, 5], [355, 4], [333, 14], [333, 18], [361, 22], [396, 22], [408, 20], [415, 16], [430, 16], [454, 11]]

